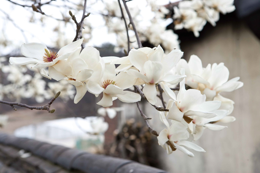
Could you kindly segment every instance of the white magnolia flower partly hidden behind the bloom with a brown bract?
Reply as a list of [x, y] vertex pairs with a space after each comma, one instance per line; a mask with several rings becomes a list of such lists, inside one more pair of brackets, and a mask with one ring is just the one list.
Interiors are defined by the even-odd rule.
[[215, 123], [231, 123], [236, 120], [233, 116], [227, 116], [227, 110], [216, 110], [215, 112], [218, 115], [214, 118], [205, 119], [199, 116], [193, 117], [192, 123], [194, 127], [194, 133], [192, 133], [192, 135], [194, 137], [194, 141], [198, 140], [202, 136], [205, 128], [211, 130], [222, 130], [227, 126], [217, 125]]

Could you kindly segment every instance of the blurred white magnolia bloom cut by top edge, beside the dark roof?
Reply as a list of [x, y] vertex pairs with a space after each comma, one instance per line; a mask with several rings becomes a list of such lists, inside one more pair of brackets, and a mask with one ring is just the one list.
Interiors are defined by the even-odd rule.
[[212, 7], [222, 14], [231, 13], [236, 8], [233, 5], [234, 0], [203, 0], [206, 5]]

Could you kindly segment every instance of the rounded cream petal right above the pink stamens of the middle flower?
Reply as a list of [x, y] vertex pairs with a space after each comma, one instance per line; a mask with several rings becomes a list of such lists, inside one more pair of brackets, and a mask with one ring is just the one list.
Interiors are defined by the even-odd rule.
[[120, 72], [116, 77], [113, 79], [113, 81], [116, 82], [116, 86], [122, 88], [122, 89], [127, 89], [133, 86], [136, 82], [137, 79], [135, 76], [130, 76], [127, 73]]

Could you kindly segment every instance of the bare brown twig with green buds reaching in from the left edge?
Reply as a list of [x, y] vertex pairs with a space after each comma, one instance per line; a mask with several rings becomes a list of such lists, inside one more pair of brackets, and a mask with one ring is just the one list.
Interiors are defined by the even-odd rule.
[[19, 103], [19, 102], [8, 102], [8, 101], [2, 101], [2, 100], [0, 100], [0, 103], [10, 105], [14, 110], [17, 110], [14, 107], [14, 105], [16, 105], [16, 106], [25, 107], [25, 108], [28, 108], [28, 109], [31, 109], [31, 110], [33, 110], [33, 109], [36, 109], [36, 110], [47, 110], [49, 113], [53, 113], [55, 111], [55, 109], [50, 110], [50, 107], [51, 107], [51, 104], [53, 103], [53, 101], [55, 99], [57, 99], [57, 97], [59, 97], [59, 95], [60, 95], [60, 91], [57, 92], [55, 94], [55, 96], [51, 99], [51, 101], [48, 104], [44, 105], [44, 106], [28, 106], [26, 104], [22, 104], [22, 103]]

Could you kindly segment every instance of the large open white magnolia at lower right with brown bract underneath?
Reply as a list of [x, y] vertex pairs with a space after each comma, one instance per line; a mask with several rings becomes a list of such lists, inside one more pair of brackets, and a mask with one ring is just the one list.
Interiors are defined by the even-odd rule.
[[[181, 69], [181, 74], [184, 75], [184, 73], [184, 69]], [[162, 88], [171, 98], [166, 107], [169, 109], [168, 119], [181, 122], [184, 118], [187, 123], [190, 123], [192, 119], [187, 118], [187, 116], [196, 115], [204, 118], [217, 116], [213, 111], [220, 107], [221, 101], [205, 101], [206, 96], [202, 95], [199, 90], [186, 90], [185, 79], [180, 82], [180, 90], [177, 98], [168, 86], [162, 84]]]

